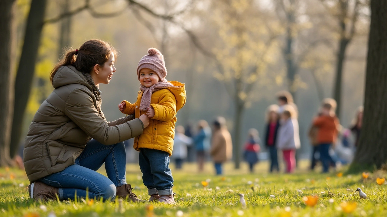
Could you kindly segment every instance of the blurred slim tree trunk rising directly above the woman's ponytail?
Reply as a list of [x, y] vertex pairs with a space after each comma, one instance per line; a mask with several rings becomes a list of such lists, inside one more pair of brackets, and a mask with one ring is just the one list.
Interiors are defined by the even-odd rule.
[[[62, 14], [66, 14], [70, 10], [70, 0], [63, 0], [62, 2]], [[58, 58], [64, 54], [64, 49], [70, 45], [71, 35], [71, 16], [65, 17], [60, 22], [60, 34], [59, 34], [59, 49]]]

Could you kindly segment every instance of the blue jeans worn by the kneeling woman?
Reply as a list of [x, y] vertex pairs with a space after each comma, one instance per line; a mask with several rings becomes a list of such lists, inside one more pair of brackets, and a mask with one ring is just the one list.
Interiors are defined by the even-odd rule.
[[[105, 164], [108, 177], [96, 171]], [[116, 186], [126, 183], [126, 153], [123, 142], [105, 146], [92, 139], [75, 159], [75, 164], [63, 171], [45, 176], [38, 181], [59, 188], [60, 200], [77, 197], [103, 198], [113, 201]]]

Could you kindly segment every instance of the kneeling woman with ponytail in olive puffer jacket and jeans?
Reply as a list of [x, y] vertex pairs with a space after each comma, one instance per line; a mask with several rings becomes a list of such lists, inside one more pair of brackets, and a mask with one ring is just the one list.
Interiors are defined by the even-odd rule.
[[[142, 134], [149, 118], [129, 115], [107, 122], [101, 111], [98, 85], [110, 82], [115, 58], [110, 44], [90, 40], [79, 50], [68, 51], [53, 68], [54, 90], [36, 112], [24, 144], [31, 198], [118, 196], [142, 202], [126, 183], [123, 141]], [[96, 172], [102, 164], [108, 177]]]

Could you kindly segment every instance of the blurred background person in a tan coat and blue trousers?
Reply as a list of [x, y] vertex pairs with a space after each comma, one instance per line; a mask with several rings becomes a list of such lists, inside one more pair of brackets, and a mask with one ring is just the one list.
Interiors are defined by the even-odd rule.
[[214, 161], [216, 175], [223, 174], [222, 164], [233, 156], [233, 143], [224, 117], [217, 117], [214, 121], [210, 154]]

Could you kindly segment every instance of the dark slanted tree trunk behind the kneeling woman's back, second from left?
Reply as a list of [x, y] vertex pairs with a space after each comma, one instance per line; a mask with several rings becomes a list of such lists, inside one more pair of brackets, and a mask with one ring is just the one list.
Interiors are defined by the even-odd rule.
[[10, 156], [14, 157], [19, 149], [19, 142], [23, 126], [31, 86], [33, 83], [36, 57], [40, 44], [43, 21], [46, 11], [46, 0], [32, 0], [27, 19], [24, 44], [19, 61], [15, 81], [14, 118], [12, 121]]

